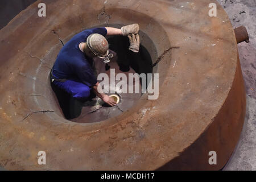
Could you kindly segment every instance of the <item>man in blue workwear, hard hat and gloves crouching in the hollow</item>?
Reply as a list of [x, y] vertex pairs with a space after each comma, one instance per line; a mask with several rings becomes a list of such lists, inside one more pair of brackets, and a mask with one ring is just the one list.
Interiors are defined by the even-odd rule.
[[130, 40], [129, 49], [138, 52], [138, 32], [138, 24], [130, 24], [123, 26], [121, 29], [112, 27], [91, 28], [73, 36], [61, 49], [53, 65], [51, 71], [52, 84], [61, 90], [65, 90], [75, 100], [82, 102], [90, 100], [93, 91], [106, 104], [116, 105], [111, 97], [98, 92], [98, 86], [100, 85], [94, 75], [92, 59], [100, 57], [104, 63], [108, 63], [110, 61], [109, 57], [113, 56], [109, 54], [106, 35], [128, 36]]

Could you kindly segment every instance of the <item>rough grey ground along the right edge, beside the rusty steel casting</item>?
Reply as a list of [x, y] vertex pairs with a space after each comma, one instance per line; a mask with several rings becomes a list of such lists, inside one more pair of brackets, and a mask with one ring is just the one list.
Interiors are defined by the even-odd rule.
[[218, 0], [233, 27], [245, 26], [250, 43], [238, 44], [246, 86], [246, 118], [240, 141], [224, 170], [256, 170], [256, 0]]

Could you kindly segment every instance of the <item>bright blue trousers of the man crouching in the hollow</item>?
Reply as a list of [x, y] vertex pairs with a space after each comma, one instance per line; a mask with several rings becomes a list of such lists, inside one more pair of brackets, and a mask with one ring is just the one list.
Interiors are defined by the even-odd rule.
[[53, 84], [58, 86], [60, 89], [65, 90], [77, 100], [86, 101], [90, 96], [91, 88], [89, 88], [89, 86], [83, 84], [82, 82], [79, 82], [78, 80], [67, 80], [64, 82], [53, 81]]

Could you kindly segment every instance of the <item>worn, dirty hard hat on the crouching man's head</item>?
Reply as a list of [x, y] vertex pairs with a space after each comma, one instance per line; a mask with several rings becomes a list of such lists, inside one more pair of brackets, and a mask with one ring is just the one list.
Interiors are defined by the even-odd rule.
[[86, 43], [94, 55], [104, 59], [109, 54], [109, 43], [106, 38], [100, 34], [91, 34]]

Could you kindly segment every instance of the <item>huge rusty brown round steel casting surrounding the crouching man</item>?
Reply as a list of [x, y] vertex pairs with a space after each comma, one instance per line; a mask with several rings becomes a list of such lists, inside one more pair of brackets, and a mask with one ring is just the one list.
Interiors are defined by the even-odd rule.
[[[46, 18], [37, 15], [39, 2], [0, 30], [2, 167], [224, 167], [241, 133], [245, 90], [233, 27], [216, 1], [46, 0]], [[217, 17], [208, 16], [212, 2]], [[151, 38], [156, 57], [169, 50], [153, 70], [158, 100], [144, 94], [97, 123], [64, 119], [48, 81], [61, 42], [88, 27], [130, 23]], [[46, 165], [38, 164], [39, 151], [46, 151]], [[217, 152], [217, 165], [209, 165], [209, 151]]]

